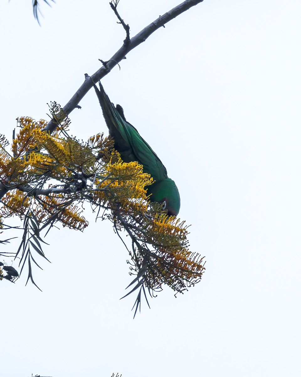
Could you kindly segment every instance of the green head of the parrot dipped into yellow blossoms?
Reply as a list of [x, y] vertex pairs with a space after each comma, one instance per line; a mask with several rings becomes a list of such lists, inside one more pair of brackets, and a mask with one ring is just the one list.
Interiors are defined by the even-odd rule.
[[163, 181], [155, 182], [147, 186], [147, 194], [150, 196], [150, 201], [164, 203], [164, 209], [167, 210], [168, 216], [177, 216], [180, 210], [180, 195], [178, 187], [175, 182], [166, 178]]

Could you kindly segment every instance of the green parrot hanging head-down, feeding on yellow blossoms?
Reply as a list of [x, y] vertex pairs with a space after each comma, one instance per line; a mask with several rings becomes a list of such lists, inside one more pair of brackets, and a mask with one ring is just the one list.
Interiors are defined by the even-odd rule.
[[99, 83], [100, 90], [94, 86], [109, 134], [114, 139], [114, 147], [124, 162], [137, 161], [143, 165], [143, 172], [150, 174], [155, 183], [147, 186], [150, 201], [164, 203], [169, 216], [177, 216], [180, 210], [180, 195], [175, 182], [168, 178], [165, 166], [160, 158], [139, 135], [134, 126], [129, 124], [120, 105], [114, 106]]

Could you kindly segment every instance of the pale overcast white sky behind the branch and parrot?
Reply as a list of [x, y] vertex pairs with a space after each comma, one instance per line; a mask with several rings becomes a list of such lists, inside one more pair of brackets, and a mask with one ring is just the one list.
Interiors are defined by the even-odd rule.
[[[108, 3], [41, 4], [40, 27], [29, 0], [1, 2], [0, 133], [11, 138], [17, 116], [45, 118], [49, 101], [65, 105], [120, 48]], [[119, 12], [134, 36], [176, 5], [120, 0]], [[204, 0], [102, 80], [176, 181], [206, 272], [133, 320], [111, 223], [87, 213], [84, 233], [53, 229], [52, 263], [34, 271], [43, 292], [24, 287], [26, 273], [0, 282], [1, 376], [301, 375], [300, 17], [297, 0]], [[92, 90], [80, 105], [71, 133], [107, 132]]]

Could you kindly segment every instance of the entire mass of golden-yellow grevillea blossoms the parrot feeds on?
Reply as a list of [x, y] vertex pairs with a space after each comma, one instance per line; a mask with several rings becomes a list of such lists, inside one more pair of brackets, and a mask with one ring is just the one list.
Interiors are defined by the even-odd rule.
[[106, 214], [116, 231], [128, 233], [131, 273], [139, 277], [135, 286], [158, 291], [167, 284], [182, 293], [198, 282], [204, 272], [203, 258], [188, 250], [185, 222], [167, 216], [162, 204], [149, 203], [146, 189], [153, 179], [143, 173], [143, 166], [123, 162], [114, 150], [114, 140], [103, 134], [91, 136], [86, 143], [69, 137], [68, 120], [56, 104], [52, 115], [65, 122], [52, 135], [45, 130], [45, 121], [20, 118], [12, 156], [0, 135], [0, 176], [11, 187], [2, 199], [0, 216], [17, 214], [21, 219], [27, 216], [27, 222], [30, 218], [29, 224], [61, 222], [83, 230], [88, 222], [78, 205], [88, 201], [111, 210]]

